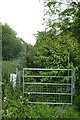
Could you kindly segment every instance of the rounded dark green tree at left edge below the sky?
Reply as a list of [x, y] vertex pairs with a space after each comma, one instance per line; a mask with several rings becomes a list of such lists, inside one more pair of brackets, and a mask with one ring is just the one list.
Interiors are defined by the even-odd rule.
[[23, 50], [23, 44], [17, 33], [7, 24], [2, 25], [2, 57], [3, 60], [16, 59]]

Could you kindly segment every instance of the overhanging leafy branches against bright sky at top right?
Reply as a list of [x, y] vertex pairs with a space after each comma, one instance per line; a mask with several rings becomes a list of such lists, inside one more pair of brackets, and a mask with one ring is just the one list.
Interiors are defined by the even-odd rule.
[[[56, 33], [72, 33], [80, 41], [80, 1], [79, 0], [44, 0], [45, 16], [49, 16], [49, 28], [56, 28]], [[46, 19], [46, 17], [45, 17]]]

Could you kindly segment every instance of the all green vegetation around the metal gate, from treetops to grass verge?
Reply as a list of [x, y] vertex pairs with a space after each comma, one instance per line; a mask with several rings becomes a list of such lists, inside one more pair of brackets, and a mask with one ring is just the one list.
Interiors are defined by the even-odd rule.
[[[45, 0], [45, 12], [49, 16], [48, 21], [45, 17], [48, 29], [37, 33], [34, 46], [17, 38], [16, 32], [7, 24], [2, 25], [2, 116], [4, 119], [80, 118], [80, 2], [66, 0], [65, 4], [66, 7], [63, 9], [61, 8], [64, 5], [63, 1]], [[56, 21], [51, 17], [55, 14], [58, 15]], [[19, 70], [23, 67], [74, 69], [76, 73], [73, 105], [29, 104], [28, 97], [22, 94], [22, 74], [20, 74], [20, 84], [14, 89], [10, 82], [10, 73], [15, 73], [16, 67]], [[44, 72], [39, 74], [43, 75]], [[45, 79], [41, 79], [40, 82], [44, 81]]]

